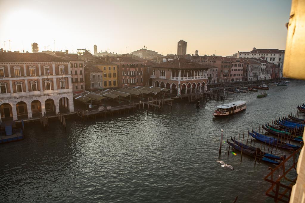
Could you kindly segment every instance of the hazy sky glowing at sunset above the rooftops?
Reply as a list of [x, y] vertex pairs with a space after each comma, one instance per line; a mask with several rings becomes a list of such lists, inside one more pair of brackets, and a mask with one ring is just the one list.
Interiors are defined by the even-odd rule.
[[[285, 49], [290, 0], [0, 0], [0, 47], [11, 51], [77, 49], [130, 53], [142, 48], [177, 54], [231, 55]], [[127, 47], [127, 48], [126, 48]]]

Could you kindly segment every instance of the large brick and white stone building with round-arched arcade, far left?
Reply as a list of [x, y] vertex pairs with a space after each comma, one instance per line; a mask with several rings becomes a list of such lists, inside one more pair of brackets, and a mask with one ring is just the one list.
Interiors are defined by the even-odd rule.
[[0, 52], [1, 119], [73, 112], [70, 61], [45, 53]]

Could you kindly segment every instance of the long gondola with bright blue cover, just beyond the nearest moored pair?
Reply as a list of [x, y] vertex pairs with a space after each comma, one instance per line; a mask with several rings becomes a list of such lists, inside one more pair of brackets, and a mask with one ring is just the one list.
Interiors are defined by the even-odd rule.
[[248, 134], [250, 136], [252, 136], [253, 138], [259, 140], [260, 142], [266, 142], [266, 144], [268, 144], [268, 145], [270, 144], [272, 146], [277, 146], [278, 148], [282, 148], [282, 149], [294, 149], [294, 150], [299, 148], [299, 146], [291, 145], [291, 144], [282, 142], [280, 140], [277, 140], [275, 138], [264, 136], [262, 134], [254, 132], [254, 131], [253, 131], [253, 133], [248, 131]]

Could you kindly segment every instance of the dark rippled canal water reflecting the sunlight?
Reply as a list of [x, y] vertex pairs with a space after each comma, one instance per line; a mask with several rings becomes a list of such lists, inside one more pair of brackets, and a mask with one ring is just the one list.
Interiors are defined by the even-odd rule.
[[[24, 140], [0, 145], [0, 201], [233, 202], [238, 195], [237, 202], [273, 202], [264, 181], [272, 165], [254, 166], [247, 156], [241, 162], [238, 152], [227, 156], [226, 143], [218, 154], [221, 129], [224, 140], [237, 139], [295, 111], [305, 101], [305, 82], [267, 92], [260, 99], [254, 92], [230, 94], [225, 102], [208, 101], [200, 109], [180, 101], [164, 112], [84, 123], [75, 116], [67, 120], [67, 133], [58, 121], [50, 122], [48, 131], [27, 124]], [[246, 111], [213, 117], [217, 105], [237, 100], [247, 102]]]

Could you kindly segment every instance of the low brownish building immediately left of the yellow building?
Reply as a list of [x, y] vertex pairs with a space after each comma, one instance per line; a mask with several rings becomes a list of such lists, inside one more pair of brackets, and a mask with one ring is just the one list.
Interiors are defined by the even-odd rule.
[[88, 92], [95, 92], [103, 89], [103, 72], [95, 65], [85, 65], [85, 89]]

